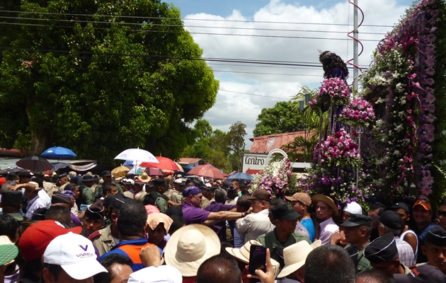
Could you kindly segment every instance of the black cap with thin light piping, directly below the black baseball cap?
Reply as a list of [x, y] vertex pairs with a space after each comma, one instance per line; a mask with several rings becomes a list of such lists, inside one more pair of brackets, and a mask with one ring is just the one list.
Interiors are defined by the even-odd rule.
[[372, 263], [380, 263], [398, 254], [394, 234], [387, 233], [364, 248], [364, 256]]

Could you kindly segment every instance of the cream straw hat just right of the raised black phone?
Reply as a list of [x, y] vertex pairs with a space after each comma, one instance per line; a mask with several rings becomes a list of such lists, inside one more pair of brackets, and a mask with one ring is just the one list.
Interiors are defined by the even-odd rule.
[[296, 270], [299, 270], [300, 267], [304, 266], [308, 254], [311, 252], [311, 250], [319, 248], [321, 243], [321, 240], [317, 240], [310, 246], [307, 241], [300, 241], [292, 244], [291, 246], [287, 246], [287, 248], [284, 248], [283, 258], [285, 260], [285, 266], [279, 273], [278, 278], [288, 276], [292, 274], [292, 272], [295, 272]]

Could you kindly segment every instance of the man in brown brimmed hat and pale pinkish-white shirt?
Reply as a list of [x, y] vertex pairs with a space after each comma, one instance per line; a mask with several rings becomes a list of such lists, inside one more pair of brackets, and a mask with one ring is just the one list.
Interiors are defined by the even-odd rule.
[[329, 244], [333, 233], [339, 231], [339, 226], [333, 221], [333, 216], [339, 214], [338, 207], [331, 197], [326, 195], [314, 195], [311, 197], [311, 202], [316, 207], [316, 218], [321, 227], [319, 239], [322, 241], [322, 245]]

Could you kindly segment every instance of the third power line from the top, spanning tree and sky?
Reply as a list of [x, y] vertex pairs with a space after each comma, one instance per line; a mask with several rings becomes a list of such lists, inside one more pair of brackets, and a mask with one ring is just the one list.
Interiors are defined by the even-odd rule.
[[[63, 25], [39, 25], [33, 23], [6, 23], [1, 22], [0, 25], [29, 25], [29, 26], [40, 26], [48, 28], [74, 28], [74, 26], [63, 26]], [[106, 29], [106, 28], [98, 28]], [[126, 30], [126, 31], [136, 31], [143, 33], [184, 33], [184, 31], [173, 31], [173, 30]], [[305, 39], [305, 40], [350, 40], [349, 38], [336, 38], [336, 37], [304, 37], [304, 36], [287, 36], [287, 35], [241, 35], [234, 33], [199, 33], [199, 32], [188, 32], [194, 35], [226, 35], [226, 36], [247, 36], [247, 37], [273, 37], [273, 38], [290, 38], [290, 39]], [[381, 40], [371, 40], [362, 39], [361, 41], [379, 42]]]

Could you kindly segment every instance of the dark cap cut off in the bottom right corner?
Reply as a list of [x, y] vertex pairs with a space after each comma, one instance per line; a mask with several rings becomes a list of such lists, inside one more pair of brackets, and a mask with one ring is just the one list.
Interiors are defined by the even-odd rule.
[[407, 275], [394, 274], [396, 283], [445, 283], [446, 276], [433, 265], [413, 267]]

